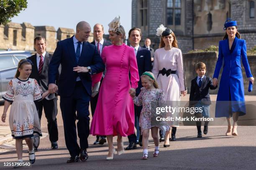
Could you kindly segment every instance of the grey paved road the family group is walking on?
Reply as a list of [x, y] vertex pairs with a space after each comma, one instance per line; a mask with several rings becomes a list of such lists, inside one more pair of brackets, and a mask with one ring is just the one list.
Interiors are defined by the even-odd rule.
[[[212, 100], [216, 96], [212, 96]], [[248, 99], [248, 97], [247, 97]], [[255, 100], [255, 96], [249, 96], [249, 100]], [[182, 100], [187, 100], [182, 97]], [[0, 113], [3, 106], [0, 106]], [[177, 141], [170, 142], [169, 148], [160, 145], [160, 155], [153, 158], [154, 143], [150, 138], [149, 159], [140, 160], [142, 148], [125, 151], [125, 154], [117, 156], [114, 160], [105, 160], [108, 153], [108, 145], [90, 145], [88, 149], [89, 159], [86, 162], [67, 164], [69, 153], [65, 147], [63, 122], [61, 113], [57, 117], [59, 127], [59, 149], [51, 150], [49, 136], [41, 140], [39, 151], [36, 153], [34, 169], [68, 170], [68, 169], [113, 169], [113, 170], [255, 170], [256, 167], [256, 126], [241, 126], [238, 128], [238, 136], [225, 136], [226, 127], [210, 127], [209, 133], [204, 138], [196, 138], [196, 127], [179, 127], [177, 129]], [[3, 123], [0, 123], [3, 125]], [[42, 118], [41, 127], [47, 132], [47, 121]], [[89, 143], [95, 140], [89, 137]], [[116, 140], [114, 140], [116, 141]], [[127, 138], [124, 138], [128, 145]], [[116, 143], [115, 143], [116, 148]], [[24, 148], [23, 160], [28, 160], [27, 148]], [[15, 150], [0, 154], [0, 168], [4, 162], [17, 160]], [[10, 167], [9, 167], [10, 168]]]

